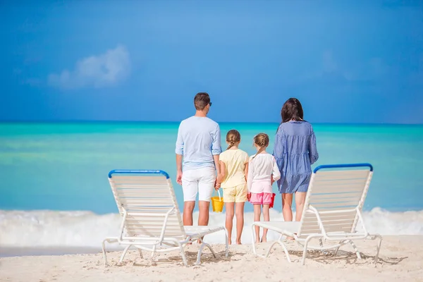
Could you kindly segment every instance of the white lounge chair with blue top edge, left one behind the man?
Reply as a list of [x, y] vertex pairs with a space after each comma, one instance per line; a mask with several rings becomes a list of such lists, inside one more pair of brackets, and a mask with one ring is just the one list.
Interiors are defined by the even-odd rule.
[[107, 266], [105, 243], [124, 245], [125, 250], [119, 263], [123, 262], [128, 249], [133, 246], [152, 252], [180, 250], [183, 263], [188, 266], [184, 247], [196, 240], [200, 241], [196, 264], [204, 247], [212, 247], [203, 240], [204, 235], [223, 231], [226, 235], [226, 257], [228, 257], [228, 233], [223, 226], [183, 226], [178, 202], [168, 174], [164, 171], [127, 171], [109, 172], [109, 183], [119, 213], [122, 216], [118, 237], [108, 237], [102, 243], [104, 264]]

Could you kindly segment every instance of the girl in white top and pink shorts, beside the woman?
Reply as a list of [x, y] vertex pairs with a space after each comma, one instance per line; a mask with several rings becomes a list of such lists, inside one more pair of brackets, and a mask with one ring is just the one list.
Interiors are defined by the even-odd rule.
[[[271, 185], [281, 178], [275, 158], [266, 152], [269, 146], [269, 136], [259, 133], [254, 137], [254, 145], [257, 154], [250, 157], [248, 164], [247, 188], [250, 203], [254, 205], [254, 220], [260, 221], [263, 206], [264, 221], [269, 221], [269, 204], [271, 204]], [[260, 228], [255, 226], [257, 238], [255, 242], [260, 242]], [[263, 229], [262, 242], [266, 242], [267, 229]]]

